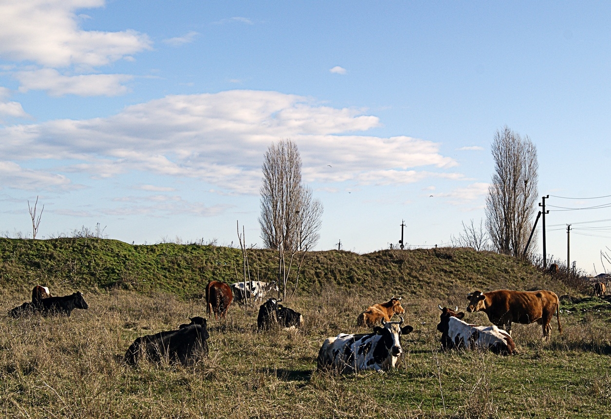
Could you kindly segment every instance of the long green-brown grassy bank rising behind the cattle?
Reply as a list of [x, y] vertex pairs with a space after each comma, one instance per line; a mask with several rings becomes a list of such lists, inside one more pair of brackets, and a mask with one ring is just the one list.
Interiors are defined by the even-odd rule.
[[[274, 251], [255, 249], [249, 255], [252, 280], [275, 279], [276, 265]], [[0, 239], [0, 286], [14, 291], [41, 283], [55, 289], [120, 287], [189, 298], [201, 296], [209, 280], [232, 283], [241, 280], [241, 272], [241, 251], [235, 248], [130, 245], [90, 238]], [[324, 286], [419, 297], [444, 297], [476, 288], [566, 292], [562, 283], [527, 262], [467, 248], [311, 252], [299, 277], [299, 292], [316, 292]]]

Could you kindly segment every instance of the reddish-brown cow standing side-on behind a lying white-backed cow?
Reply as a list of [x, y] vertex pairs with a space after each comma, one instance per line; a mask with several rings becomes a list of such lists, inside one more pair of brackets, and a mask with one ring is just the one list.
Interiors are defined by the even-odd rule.
[[558, 332], [560, 326], [560, 301], [551, 291], [509, 291], [499, 289], [482, 293], [474, 291], [467, 295], [467, 311], [483, 311], [492, 324], [511, 333], [511, 323], [531, 324], [537, 322], [543, 328], [543, 337], [549, 338], [550, 322], [556, 312]]

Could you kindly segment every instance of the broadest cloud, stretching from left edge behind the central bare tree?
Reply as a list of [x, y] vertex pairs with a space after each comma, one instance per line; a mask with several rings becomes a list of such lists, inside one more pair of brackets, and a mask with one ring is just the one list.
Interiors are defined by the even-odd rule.
[[378, 126], [378, 117], [359, 109], [332, 108], [279, 92], [170, 95], [106, 118], [4, 127], [0, 155], [13, 161], [70, 161], [74, 163], [62, 171], [88, 172], [98, 179], [142, 171], [195, 177], [235, 193], [257, 193], [265, 150], [279, 139], [291, 138], [301, 152], [307, 182], [389, 185], [427, 177], [464, 180], [447, 171], [456, 161], [439, 154], [436, 143], [409, 136], [351, 134]]

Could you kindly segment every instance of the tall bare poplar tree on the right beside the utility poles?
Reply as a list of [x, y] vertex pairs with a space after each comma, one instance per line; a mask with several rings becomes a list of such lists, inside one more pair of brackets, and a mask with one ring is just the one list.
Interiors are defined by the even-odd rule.
[[538, 196], [536, 147], [503, 127], [492, 141], [495, 172], [486, 197], [486, 228], [499, 252], [520, 256], [529, 239]]

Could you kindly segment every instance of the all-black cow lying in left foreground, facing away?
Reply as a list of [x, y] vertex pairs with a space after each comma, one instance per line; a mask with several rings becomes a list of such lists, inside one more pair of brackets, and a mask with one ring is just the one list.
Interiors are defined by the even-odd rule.
[[190, 366], [202, 355], [208, 354], [207, 321], [193, 317], [190, 324], [182, 324], [178, 330], [168, 330], [155, 335], [137, 338], [125, 352], [125, 362], [136, 365], [142, 357], [149, 362], [181, 363]]

